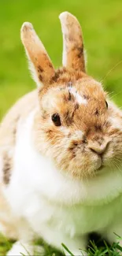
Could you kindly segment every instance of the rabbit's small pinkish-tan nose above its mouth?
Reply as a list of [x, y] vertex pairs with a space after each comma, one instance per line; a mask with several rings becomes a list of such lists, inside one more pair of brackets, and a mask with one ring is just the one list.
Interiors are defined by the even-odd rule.
[[104, 143], [100, 144], [98, 142], [90, 142], [88, 143], [89, 149], [96, 154], [103, 154], [109, 144], [109, 141], [105, 141]]

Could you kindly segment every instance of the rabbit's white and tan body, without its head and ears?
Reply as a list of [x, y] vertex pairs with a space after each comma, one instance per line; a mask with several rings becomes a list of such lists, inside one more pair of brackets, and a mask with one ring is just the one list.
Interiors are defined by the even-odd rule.
[[[109, 225], [113, 224], [116, 228], [116, 224], [120, 223], [122, 176], [115, 178], [114, 173], [105, 170], [102, 176], [93, 177], [90, 181], [74, 181], [70, 176], [59, 173], [50, 159], [47, 161], [41, 156], [32, 139], [38, 111], [36, 94], [37, 91], [33, 91], [20, 99], [7, 114], [0, 129], [3, 141], [7, 142], [5, 145], [2, 142], [1, 147], [1, 176], [5, 183], [8, 180], [1, 191], [6, 202], [6, 206], [1, 206], [2, 232], [18, 239], [23, 239], [24, 232], [25, 239], [34, 238], [36, 234], [57, 248], [61, 247], [61, 243], [68, 244], [70, 239], [76, 239], [77, 244], [78, 238], [78, 248], [83, 246], [85, 249], [90, 232], [99, 232], [107, 237]], [[21, 111], [23, 108], [26, 113]], [[10, 129], [13, 120], [17, 121], [14, 133]], [[4, 137], [7, 121], [7, 129], [11, 132]], [[9, 156], [9, 160], [13, 159], [13, 165], [8, 163], [7, 172], [4, 169], [4, 154]], [[83, 245], [80, 236], [86, 238]], [[72, 243], [68, 246], [74, 250]]]

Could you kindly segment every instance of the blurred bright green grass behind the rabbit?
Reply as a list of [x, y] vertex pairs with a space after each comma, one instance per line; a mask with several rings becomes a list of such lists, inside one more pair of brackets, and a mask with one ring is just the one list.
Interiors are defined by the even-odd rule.
[[121, 106], [121, 0], [0, 0], [0, 118], [17, 98], [35, 88], [20, 42], [21, 25], [24, 21], [34, 25], [58, 67], [62, 54], [58, 16], [65, 10], [76, 15], [82, 26], [88, 73], [103, 80], [105, 89], [113, 92], [113, 100]]

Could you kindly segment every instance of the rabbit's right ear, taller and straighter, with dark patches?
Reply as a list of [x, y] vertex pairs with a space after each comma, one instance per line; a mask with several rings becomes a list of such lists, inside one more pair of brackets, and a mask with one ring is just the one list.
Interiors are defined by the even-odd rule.
[[83, 36], [79, 21], [71, 13], [59, 16], [63, 33], [63, 65], [85, 72]]

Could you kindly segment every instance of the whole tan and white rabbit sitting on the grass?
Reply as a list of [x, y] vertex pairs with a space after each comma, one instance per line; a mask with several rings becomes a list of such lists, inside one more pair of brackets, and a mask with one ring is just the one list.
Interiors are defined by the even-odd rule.
[[86, 255], [91, 232], [122, 236], [122, 113], [87, 75], [79, 21], [60, 20], [57, 70], [32, 25], [20, 32], [37, 89], [0, 126], [0, 232], [17, 240], [7, 255], [33, 254], [35, 237]]

